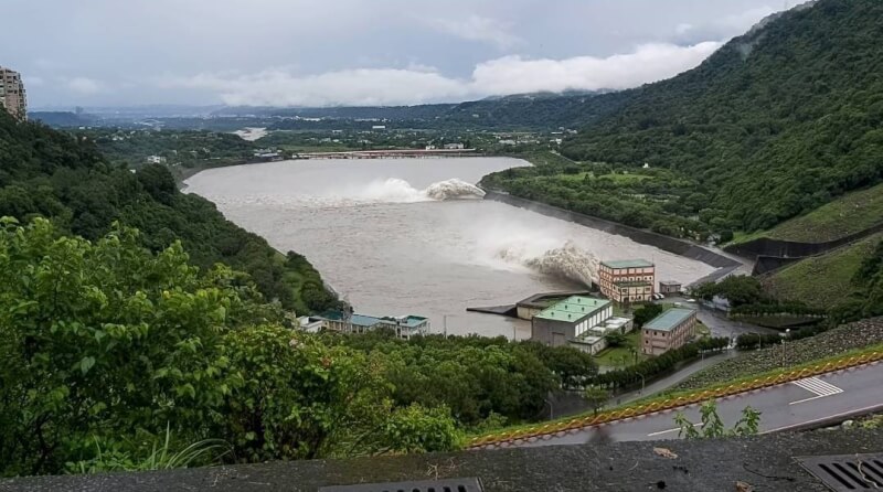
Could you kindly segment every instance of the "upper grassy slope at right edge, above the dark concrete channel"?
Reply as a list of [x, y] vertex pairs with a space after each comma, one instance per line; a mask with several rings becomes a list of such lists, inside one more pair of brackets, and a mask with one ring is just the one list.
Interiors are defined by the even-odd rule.
[[815, 211], [785, 221], [769, 231], [734, 233], [730, 244], [760, 237], [804, 243], [823, 243], [858, 233], [883, 222], [883, 184], [847, 193]]

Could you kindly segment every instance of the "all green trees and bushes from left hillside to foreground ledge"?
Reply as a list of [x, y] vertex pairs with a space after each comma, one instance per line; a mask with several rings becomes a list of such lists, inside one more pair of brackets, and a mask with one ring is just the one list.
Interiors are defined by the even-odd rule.
[[337, 304], [316, 270], [164, 167], [2, 115], [0, 142], [0, 474], [449, 450], [597, 374], [502, 338], [292, 331]]

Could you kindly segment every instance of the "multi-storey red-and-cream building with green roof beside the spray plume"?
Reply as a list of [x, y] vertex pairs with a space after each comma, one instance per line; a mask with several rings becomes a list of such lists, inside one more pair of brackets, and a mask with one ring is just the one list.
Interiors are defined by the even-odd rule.
[[656, 266], [646, 259], [602, 261], [600, 292], [614, 302], [647, 302], [653, 299]]

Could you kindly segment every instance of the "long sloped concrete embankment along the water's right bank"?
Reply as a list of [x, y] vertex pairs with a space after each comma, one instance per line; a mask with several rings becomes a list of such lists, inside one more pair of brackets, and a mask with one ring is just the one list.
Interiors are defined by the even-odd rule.
[[509, 205], [526, 208], [532, 212], [536, 212], [538, 214], [561, 218], [563, 221], [570, 221], [587, 227], [600, 229], [606, 233], [626, 236], [636, 243], [656, 246], [664, 252], [692, 258], [715, 268], [733, 268], [743, 265], [733, 258], [726, 257], [720, 253], [715, 253], [711, 249], [687, 240], [675, 239], [673, 237], [663, 236], [651, 231], [617, 224], [615, 222], [605, 221], [604, 218], [593, 217], [591, 215], [585, 215], [577, 212], [571, 212], [564, 208], [547, 205], [545, 203], [512, 196], [508, 193], [485, 190], [485, 200], [494, 200]]

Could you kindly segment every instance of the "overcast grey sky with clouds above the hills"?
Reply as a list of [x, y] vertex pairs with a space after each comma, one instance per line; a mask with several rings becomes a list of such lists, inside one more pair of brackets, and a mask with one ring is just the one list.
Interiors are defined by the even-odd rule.
[[627, 88], [781, 0], [2, 0], [32, 107], [397, 105]]

